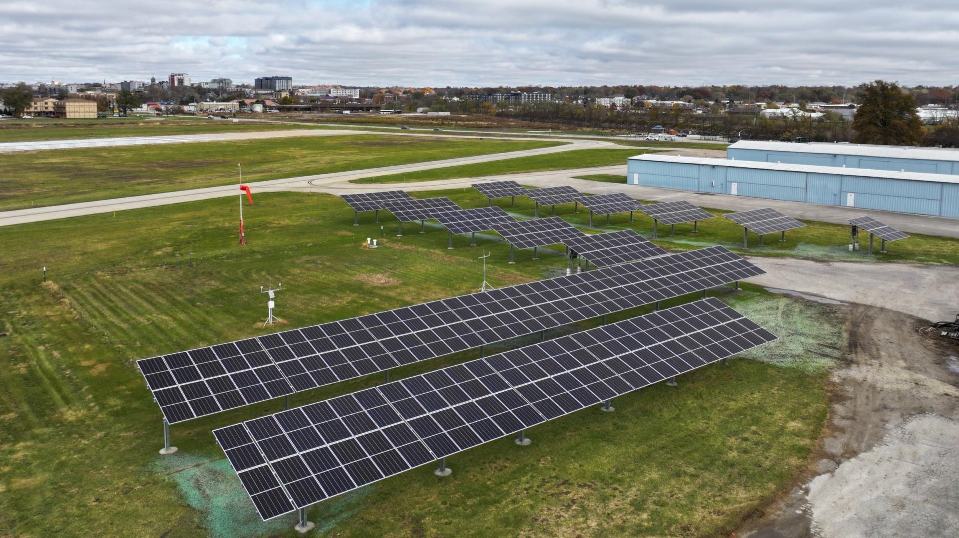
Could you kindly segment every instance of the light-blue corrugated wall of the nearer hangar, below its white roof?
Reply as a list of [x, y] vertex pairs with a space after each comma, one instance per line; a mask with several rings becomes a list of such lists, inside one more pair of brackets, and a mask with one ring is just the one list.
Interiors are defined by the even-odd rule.
[[932, 181], [808, 174], [756, 170], [719, 165], [696, 165], [642, 160], [628, 161], [629, 177], [638, 184], [737, 196], [807, 201], [827, 205], [940, 215], [959, 218], [959, 185]]

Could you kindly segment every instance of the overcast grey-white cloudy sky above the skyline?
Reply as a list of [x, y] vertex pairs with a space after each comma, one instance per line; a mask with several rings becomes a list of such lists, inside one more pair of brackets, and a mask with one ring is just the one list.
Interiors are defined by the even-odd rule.
[[955, 0], [2, 0], [0, 82], [955, 84], [957, 29]]

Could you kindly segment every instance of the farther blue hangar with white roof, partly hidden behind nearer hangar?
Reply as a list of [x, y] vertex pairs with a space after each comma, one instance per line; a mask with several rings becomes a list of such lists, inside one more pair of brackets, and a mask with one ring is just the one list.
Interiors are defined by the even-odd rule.
[[726, 149], [726, 158], [959, 175], [959, 150], [946, 148], [740, 140]]

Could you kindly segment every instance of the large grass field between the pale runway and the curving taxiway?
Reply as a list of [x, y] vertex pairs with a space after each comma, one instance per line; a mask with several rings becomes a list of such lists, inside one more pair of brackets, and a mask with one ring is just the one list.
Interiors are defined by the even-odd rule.
[[562, 145], [376, 134], [0, 153], [0, 210]]

